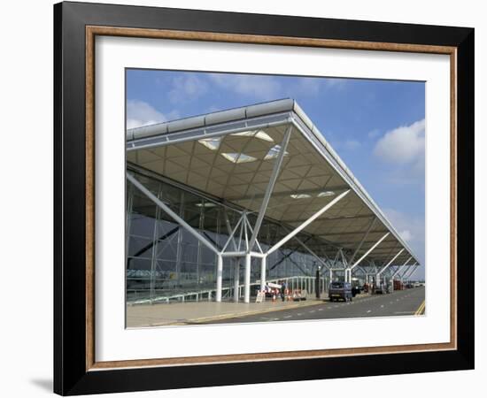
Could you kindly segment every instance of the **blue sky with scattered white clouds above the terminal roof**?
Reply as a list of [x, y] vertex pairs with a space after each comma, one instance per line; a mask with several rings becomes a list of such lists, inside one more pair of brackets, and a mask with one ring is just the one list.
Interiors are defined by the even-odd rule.
[[[288, 97], [424, 264], [423, 82], [127, 71], [129, 128]], [[415, 276], [423, 275], [421, 267]]]

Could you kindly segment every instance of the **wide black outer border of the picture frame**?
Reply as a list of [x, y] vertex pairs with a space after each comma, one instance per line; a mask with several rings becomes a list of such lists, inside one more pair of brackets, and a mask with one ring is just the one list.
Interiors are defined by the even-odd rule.
[[[87, 26], [174, 29], [457, 49], [457, 349], [87, 370]], [[474, 368], [474, 29], [112, 4], [54, 5], [54, 392], [99, 394]], [[385, 359], [385, 360], [384, 360]]]

